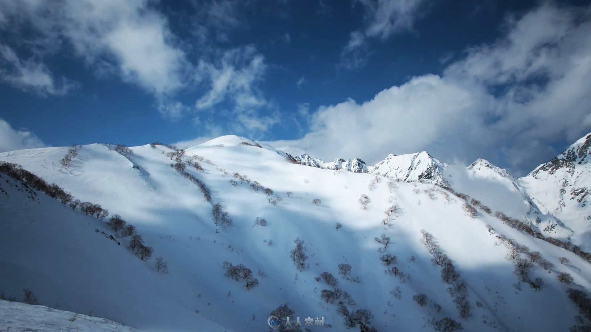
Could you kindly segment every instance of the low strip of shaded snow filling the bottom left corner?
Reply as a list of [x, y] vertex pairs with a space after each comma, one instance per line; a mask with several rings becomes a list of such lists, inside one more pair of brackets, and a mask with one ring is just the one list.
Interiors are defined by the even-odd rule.
[[138, 331], [106, 318], [0, 300], [0, 331]]

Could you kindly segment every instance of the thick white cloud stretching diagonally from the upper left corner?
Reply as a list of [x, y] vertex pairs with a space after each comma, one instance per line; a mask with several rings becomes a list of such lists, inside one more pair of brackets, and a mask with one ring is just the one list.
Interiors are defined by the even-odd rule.
[[[54, 53], [56, 45], [68, 43], [74, 54], [99, 72], [114, 65], [126, 82], [138, 84], [148, 92], [164, 96], [181, 87], [183, 73], [190, 67], [184, 52], [174, 45], [167, 19], [147, 1], [64, 0], [61, 2], [2, 2], [5, 21], [2, 30], [17, 34], [21, 29], [34, 32], [27, 45], [39, 58]], [[28, 28], [31, 27], [31, 28]], [[15, 38], [14, 43], [22, 43]], [[6, 47], [4, 47], [6, 49]], [[7, 52], [3, 56], [7, 58]], [[108, 65], [105, 67], [106, 61]], [[10, 60], [20, 76], [14, 85], [43, 87], [47, 93], [65, 93], [72, 84], [64, 81], [60, 89], [41, 62]], [[5, 79], [6, 80], [6, 79]]]

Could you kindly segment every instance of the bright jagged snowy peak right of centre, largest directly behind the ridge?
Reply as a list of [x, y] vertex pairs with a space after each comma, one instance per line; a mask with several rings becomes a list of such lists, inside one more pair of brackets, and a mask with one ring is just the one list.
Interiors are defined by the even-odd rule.
[[394, 178], [397, 181], [427, 181], [447, 187], [449, 183], [443, 177], [443, 171], [447, 167], [447, 164], [431, 157], [427, 151], [423, 151], [405, 155], [389, 154], [384, 160], [378, 162], [370, 172]]

